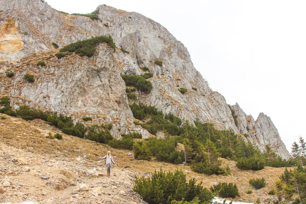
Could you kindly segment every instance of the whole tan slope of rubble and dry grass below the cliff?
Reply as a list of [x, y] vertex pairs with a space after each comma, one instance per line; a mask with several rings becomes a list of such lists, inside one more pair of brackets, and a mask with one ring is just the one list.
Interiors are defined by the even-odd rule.
[[[263, 203], [276, 197], [268, 195], [275, 179], [284, 168], [265, 167], [260, 171], [240, 170], [235, 161], [222, 160], [229, 165], [231, 175], [211, 175], [192, 172], [189, 166], [165, 162], [134, 160], [131, 150], [119, 150], [101, 143], [63, 134], [63, 139], [47, 139], [49, 132], [60, 132], [39, 119], [24, 121], [0, 114], [0, 203], [34, 200], [39, 203], [145, 203], [134, 191], [134, 176], [149, 175], [162, 168], [181, 169], [186, 178], [203, 180], [209, 188], [217, 182], [237, 184], [240, 197], [233, 200]], [[110, 177], [99, 157], [111, 150], [117, 166]], [[127, 167], [127, 168], [125, 168]], [[104, 174], [104, 175], [103, 175]], [[251, 178], [264, 177], [266, 187], [256, 190], [249, 185]], [[86, 185], [86, 186], [84, 186]], [[252, 194], [246, 194], [252, 189]]]

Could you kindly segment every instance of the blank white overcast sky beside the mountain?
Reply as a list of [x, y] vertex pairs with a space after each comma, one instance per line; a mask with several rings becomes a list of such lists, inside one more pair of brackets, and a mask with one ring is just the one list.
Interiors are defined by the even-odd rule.
[[162, 24], [227, 103], [256, 120], [270, 116], [290, 151], [304, 123], [306, 1], [47, 0], [57, 10], [91, 13], [101, 4]]

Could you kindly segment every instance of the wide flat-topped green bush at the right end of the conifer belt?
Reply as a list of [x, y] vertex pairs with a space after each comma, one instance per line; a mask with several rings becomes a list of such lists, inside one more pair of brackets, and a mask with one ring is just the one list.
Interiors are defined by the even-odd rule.
[[261, 170], [265, 167], [265, 161], [259, 157], [239, 158], [236, 166], [245, 170]]

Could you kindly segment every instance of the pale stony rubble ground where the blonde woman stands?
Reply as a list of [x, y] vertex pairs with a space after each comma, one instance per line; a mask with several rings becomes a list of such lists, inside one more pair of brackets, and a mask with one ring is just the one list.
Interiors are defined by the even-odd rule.
[[132, 191], [135, 171], [114, 167], [108, 177], [102, 161], [0, 146], [1, 202], [145, 203]]

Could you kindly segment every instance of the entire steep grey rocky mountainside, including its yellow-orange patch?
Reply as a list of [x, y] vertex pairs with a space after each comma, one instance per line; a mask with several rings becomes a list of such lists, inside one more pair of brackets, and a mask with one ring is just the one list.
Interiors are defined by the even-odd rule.
[[[63, 46], [91, 36], [111, 35], [117, 47], [123, 47], [130, 52], [130, 54], [122, 54], [118, 53], [117, 49], [115, 54], [104, 55], [105, 51], [101, 52], [99, 48], [97, 54], [90, 59], [87, 57], [78, 58], [78, 64], [74, 68], [73, 65], [67, 67], [64, 65], [65, 61], [59, 60], [56, 62], [57, 67], [62, 71], [71, 71], [71, 73], [63, 73], [61, 76], [54, 73], [54, 67], [50, 64], [47, 64], [47, 68], [35, 68], [34, 72], [38, 75], [38, 80], [35, 82], [37, 85], [29, 87], [29, 85], [23, 84], [21, 85], [23, 86], [22, 90], [15, 86], [17, 81], [22, 83], [20, 77], [16, 76], [12, 81], [2, 78], [0, 79], [2, 94], [15, 98], [20, 95], [37, 106], [73, 114], [76, 117], [80, 111], [89, 115], [112, 113], [106, 115], [109, 116], [108, 121], [110, 122], [120, 121], [115, 123], [117, 129], [113, 130], [115, 136], [118, 136], [120, 133], [135, 128], [134, 126], [128, 127], [128, 124], [132, 124], [133, 119], [124, 94], [124, 83], [119, 74], [139, 75], [142, 73], [139, 67], [147, 66], [154, 75], [150, 79], [153, 90], [149, 95], [141, 94], [140, 101], [190, 121], [195, 119], [209, 121], [218, 128], [231, 128], [236, 133], [247, 133], [261, 149], [264, 148], [264, 144], [270, 141], [272, 148], [279, 155], [283, 158], [290, 157], [277, 129], [268, 117], [259, 115], [257, 122], [253, 123], [252, 116], [246, 116], [238, 108], [239, 106], [234, 105], [232, 108], [235, 109], [239, 118], [237, 126], [235, 125], [225, 98], [208, 87], [201, 74], [193, 67], [186, 47], [159, 23], [139, 13], [117, 10], [106, 5], [98, 6], [96, 9], [99, 11], [100, 20], [61, 14], [51, 8], [47, 2], [40, 0], [2, 0], [0, 10], [3, 10], [0, 14], [0, 46], [2, 47], [0, 47], [0, 54], [2, 60], [5, 61], [1, 69], [3, 76], [7, 68], [13, 69], [15, 72], [33, 71], [33, 66], [27, 66], [25, 61], [29, 58], [36, 60], [34, 55], [30, 55], [33, 52], [52, 49], [51, 42]], [[109, 26], [105, 26], [106, 23]], [[8, 50], [7, 47], [12, 48]], [[22, 57], [24, 58], [21, 60]], [[51, 60], [52, 58], [54, 56], [50, 53], [49, 57], [46, 56], [43, 59]], [[162, 66], [155, 65], [155, 59], [161, 60]], [[12, 61], [8, 62], [7, 60]], [[21, 60], [21, 64], [19, 60]], [[92, 66], [84, 69], [89, 61]], [[79, 75], [80, 70], [82, 71]], [[114, 70], [113, 76], [110, 73]], [[42, 76], [44, 72], [54, 75], [53, 78]], [[96, 75], [93, 72], [99, 73]], [[87, 77], [84, 78], [84, 76]], [[81, 80], [76, 82], [76, 79]], [[106, 81], [110, 81], [109, 84], [105, 83]], [[58, 82], [61, 85], [59, 89]], [[8, 83], [10, 83], [9, 87], [7, 87]], [[89, 84], [91, 85], [89, 86]], [[119, 86], [115, 87], [115, 84], [119, 84]], [[85, 87], [83, 87], [84, 85]], [[110, 88], [106, 88], [105, 85], [109, 85]], [[113, 91], [111, 87], [115, 90]], [[184, 87], [188, 91], [181, 94], [177, 87]], [[192, 87], [195, 87], [196, 90], [193, 90]], [[31, 88], [35, 88], [36, 91], [30, 91]], [[89, 90], [93, 92], [91, 93]], [[65, 93], [61, 94], [62, 91]], [[46, 93], [50, 93], [50, 100], [42, 99], [44, 95], [48, 95]], [[73, 93], [70, 99], [68, 98], [69, 93]], [[98, 101], [98, 95], [101, 96], [101, 103]], [[106, 95], [107, 97], [104, 98]], [[56, 98], [56, 102], [61, 103], [54, 104], [54, 98]], [[88, 100], [88, 103], [85, 99]], [[100, 116], [97, 116], [98, 121], [101, 119]], [[124, 120], [130, 122], [125, 123]], [[248, 126], [250, 126], [249, 131], [247, 130]], [[148, 136], [148, 133], [141, 128], [138, 131]], [[270, 138], [271, 135], [273, 139]]]

